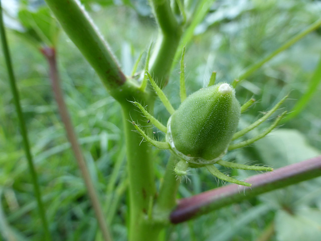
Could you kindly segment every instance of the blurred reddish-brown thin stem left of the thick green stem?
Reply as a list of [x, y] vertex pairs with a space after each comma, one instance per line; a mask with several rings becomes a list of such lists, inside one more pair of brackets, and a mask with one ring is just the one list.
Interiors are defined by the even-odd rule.
[[84, 156], [82, 154], [81, 148], [78, 143], [76, 133], [74, 131], [73, 125], [70, 120], [68, 109], [64, 100], [63, 92], [60, 86], [60, 80], [58, 75], [57, 61], [56, 61], [56, 52], [54, 48], [44, 47], [41, 49], [41, 52], [45, 56], [49, 64], [49, 75], [51, 86], [54, 92], [54, 96], [58, 105], [59, 113], [62, 119], [62, 122], [65, 126], [67, 138], [71, 144], [71, 148], [75, 155], [76, 161], [78, 163], [79, 169], [82, 173], [82, 178], [84, 179], [89, 198], [91, 200], [92, 206], [95, 211], [95, 215], [98, 221], [98, 225], [102, 232], [102, 236], [105, 241], [112, 240], [110, 232], [108, 230], [107, 223], [103, 216], [103, 211], [99, 202], [98, 194], [94, 187], [94, 184], [91, 180]]

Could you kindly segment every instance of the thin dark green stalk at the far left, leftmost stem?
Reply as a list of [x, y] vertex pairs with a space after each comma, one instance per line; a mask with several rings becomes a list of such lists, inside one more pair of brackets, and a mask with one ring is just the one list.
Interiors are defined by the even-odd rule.
[[38, 175], [35, 170], [33, 158], [32, 158], [31, 151], [30, 151], [30, 144], [29, 144], [29, 139], [28, 139], [27, 127], [26, 127], [26, 123], [24, 121], [25, 118], [24, 118], [22, 108], [20, 105], [19, 92], [18, 92], [17, 86], [16, 86], [16, 78], [14, 75], [11, 56], [10, 56], [9, 47], [8, 47], [8, 43], [7, 43], [5, 26], [4, 26], [4, 22], [3, 22], [1, 0], [0, 0], [0, 33], [1, 33], [2, 47], [3, 47], [5, 59], [6, 59], [7, 71], [8, 71], [9, 80], [10, 80], [10, 87], [11, 87], [12, 94], [14, 96], [14, 103], [16, 106], [16, 111], [17, 111], [17, 115], [18, 115], [18, 119], [19, 119], [19, 128], [20, 128], [21, 135], [23, 138], [23, 144], [24, 144], [24, 149], [25, 149], [25, 153], [26, 153], [26, 158], [28, 161], [29, 172], [31, 173], [31, 177], [32, 177], [32, 183], [33, 183], [34, 192], [35, 192], [35, 196], [36, 196], [37, 204], [38, 204], [37, 205], [38, 211], [39, 211], [39, 215], [41, 218], [42, 226], [44, 228], [44, 240], [50, 241], [50, 240], [52, 240], [52, 238], [51, 238], [51, 235], [49, 232], [49, 227], [48, 227], [48, 222], [47, 222], [47, 218], [46, 218], [44, 205], [43, 205], [43, 202], [41, 199], [41, 191], [40, 191], [40, 187], [39, 187], [39, 183], [38, 183]]

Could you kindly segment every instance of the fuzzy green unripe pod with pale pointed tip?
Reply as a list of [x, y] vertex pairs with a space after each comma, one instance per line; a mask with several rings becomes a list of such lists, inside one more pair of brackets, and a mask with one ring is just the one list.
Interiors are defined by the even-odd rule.
[[229, 84], [200, 89], [169, 118], [167, 142], [177, 155], [191, 164], [215, 163], [226, 154], [240, 112], [235, 90]]

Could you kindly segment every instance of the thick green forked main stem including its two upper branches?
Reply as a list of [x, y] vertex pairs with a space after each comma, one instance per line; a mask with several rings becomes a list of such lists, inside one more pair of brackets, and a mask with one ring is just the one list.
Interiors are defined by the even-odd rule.
[[[129, 240], [156, 240], [161, 228], [156, 222], [146, 219], [156, 193], [151, 148], [146, 143], [140, 144], [140, 135], [132, 132], [134, 128], [128, 122], [131, 119], [137, 123], [142, 121], [141, 114], [136, 110], [132, 111], [133, 105], [128, 100], [146, 101], [151, 112], [155, 96], [150, 97], [134, 81], [125, 79], [107, 44], [76, 0], [45, 1], [70, 39], [95, 69], [109, 93], [121, 104], [129, 175]], [[169, 78], [182, 29], [172, 13], [170, 1], [152, 0], [151, 3], [160, 28], [160, 37], [149, 70], [158, 86], [163, 87]]]

